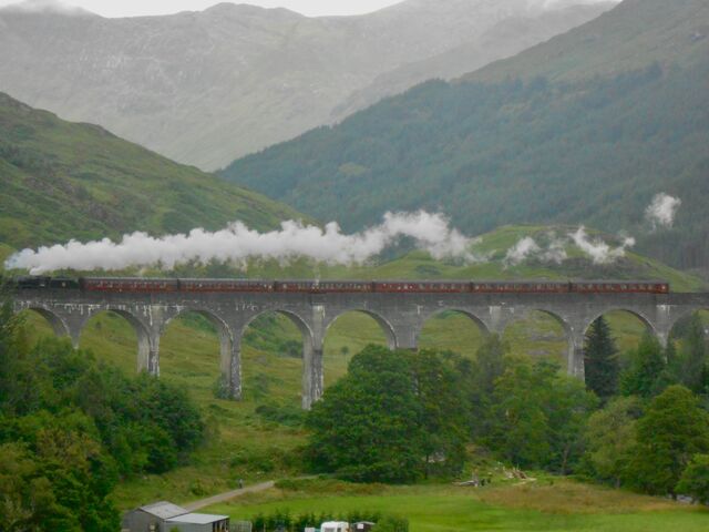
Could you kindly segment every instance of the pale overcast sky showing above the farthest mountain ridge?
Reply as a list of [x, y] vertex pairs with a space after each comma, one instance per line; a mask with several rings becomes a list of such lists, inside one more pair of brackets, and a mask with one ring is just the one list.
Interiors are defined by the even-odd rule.
[[[53, 0], [30, 0], [32, 3], [56, 3]], [[62, 2], [75, 6], [103, 17], [134, 17], [142, 14], [165, 14], [178, 11], [201, 11], [220, 1], [228, 0], [69, 0]], [[310, 17], [322, 14], [367, 13], [399, 3], [401, 0], [250, 0], [247, 2], [265, 8], [288, 8]], [[0, 0], [1, 6], [18, 3], [18, 0]]]

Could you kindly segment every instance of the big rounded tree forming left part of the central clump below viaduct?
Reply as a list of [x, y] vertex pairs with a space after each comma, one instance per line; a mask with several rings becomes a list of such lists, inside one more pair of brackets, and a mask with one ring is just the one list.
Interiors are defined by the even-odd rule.
[[411, 357], [369, 346], [307, 417], [312, 466], [352, 481], [414, 481], [425, 456], [422, 417]]

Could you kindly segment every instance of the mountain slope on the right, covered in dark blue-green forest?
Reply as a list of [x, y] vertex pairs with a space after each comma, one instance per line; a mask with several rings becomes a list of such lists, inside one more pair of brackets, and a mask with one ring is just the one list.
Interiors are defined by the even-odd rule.
[[[422, 84], [224, 175], [349, 229], [420, 207], [473, 234], [588, 223], [702, 267], [708, 88], [709, 2], [626, 0], [518, 57]], [[650, 232], [645, 209], [662, 192], [684, 204], [675, 228]]]

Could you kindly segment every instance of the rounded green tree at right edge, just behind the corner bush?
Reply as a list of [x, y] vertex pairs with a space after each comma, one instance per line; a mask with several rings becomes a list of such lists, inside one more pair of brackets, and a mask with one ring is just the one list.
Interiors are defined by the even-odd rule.
[[650, 494], [676, 494], [695, 454], [709, 452], [709, 413], [684, 386], [670, 386], [653, 399], [637, 423], [637, 446], [625, 480]]

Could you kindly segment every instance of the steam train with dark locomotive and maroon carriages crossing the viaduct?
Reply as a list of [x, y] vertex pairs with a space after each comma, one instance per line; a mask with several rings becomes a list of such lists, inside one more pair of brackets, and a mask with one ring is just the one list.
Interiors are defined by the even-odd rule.
[[18, 289], [107, 293], [299, 293], [299, 294], [669, 294], [669, 284], [647, 280], [251, 280], [126, 277], [19, 277]]

